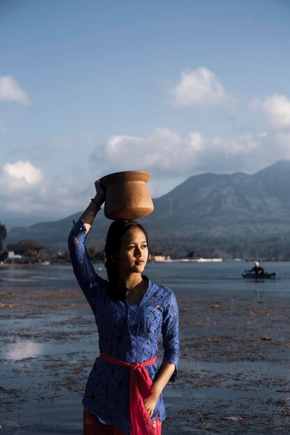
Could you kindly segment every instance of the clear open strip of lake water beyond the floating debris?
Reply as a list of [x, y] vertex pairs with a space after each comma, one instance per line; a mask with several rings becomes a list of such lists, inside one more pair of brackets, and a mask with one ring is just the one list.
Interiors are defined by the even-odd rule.
[[[290, 290], [290, 262], [263, 263], [267, 272], [277, 272], [277, 279], [262, 281], [264, 290], [276, 289], [277, 293]], [[252, 268], [252, 263], [244, 261], [223, 261], [217, 263], [148, 263], [145, 269], [150, 279], [159, 284], [170, 286], [175, 293], [179, 292], [216, 292], [221, 291], [252, 291], [257, 289], [257, 282], [241, 279], [245, 269]], [[96, 271], [106, 278], [104, 265], [95, 265]], [[99, 270], [101, 269], [101, 270]], [[0, 268], [0, 284], [9, 282], [26, 285], [35, 284], [46, 288], [52, 284], [56, 288], [74, 286], [75, 278], [70, 265], [49, 266], [19, 266]]]

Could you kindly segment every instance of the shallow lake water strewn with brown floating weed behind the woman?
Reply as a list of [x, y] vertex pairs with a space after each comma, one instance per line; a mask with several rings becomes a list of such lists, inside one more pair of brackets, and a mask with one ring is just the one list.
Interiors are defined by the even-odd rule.
[[[182, 360], [164, 392], [163, 434], [288, 434], [289, 304], [234, 291], [177, 299]], [[40, 404], [81, 408], [98, 350], [79, 289], [4, 285], [1, 304], [2, 417]]]

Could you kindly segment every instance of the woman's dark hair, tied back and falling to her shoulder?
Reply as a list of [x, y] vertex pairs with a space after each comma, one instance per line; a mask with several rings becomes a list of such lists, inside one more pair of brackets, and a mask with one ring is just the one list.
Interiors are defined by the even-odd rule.
[[129, 229], [138, 227], [145, 234], [146, 242], [148, 244], [148, 235], [145, 229], [139, 222], [135, 220], [118, 219], [112, 222], [110, 228], [108, 229], [108, 234], [106, 236], [105, 254], [106, 263], [105, 268], [108, 274], [108, 294], [112, 299], [122, 300], [126, 299], [127, 288], [118, 287], [118, 265], [113, 258], [119, 255], [122, 236], [124, 233], [129, 231]]

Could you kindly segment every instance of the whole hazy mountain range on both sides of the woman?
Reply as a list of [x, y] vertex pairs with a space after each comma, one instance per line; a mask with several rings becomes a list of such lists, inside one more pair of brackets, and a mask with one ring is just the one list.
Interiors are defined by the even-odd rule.
[[[225, 243], [245, 245], [254, 240], [264, 240], [264, 243], [271, 238], [286, 240], [289, 186], [290, 161], [277, 162], [255, 174], [195, 175], [154, 199], [154, 213], [140, 222], [148, 230], [153, 241], [151, 246], [163, 250], [168, 247], [170, 252], [181, 246], [186, 252], [195, 245], [199, 249], [204, 246], [207, 251], [211, 245], [213, 253], [213, 244], [223, 251]], [[65, 244], [72, 220], [79, 215], [81, 212], [56, 222], [14, 227], [8, 235], [8, 243], [33, 238], [45, 245]], [[101, 211], [90, 233], [90, 243], [104, 245], [110, 223]]]

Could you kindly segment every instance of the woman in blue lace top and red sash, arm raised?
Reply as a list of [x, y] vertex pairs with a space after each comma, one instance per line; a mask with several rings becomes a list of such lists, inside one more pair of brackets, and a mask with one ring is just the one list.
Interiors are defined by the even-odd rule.
[[[99, 277], [84, 242], [106, 191], [97, 195], [70, 233], [74, 274], [95, 315], [100, 355], [83, 397], [83, 435], [160, 435], [166, 418], [163, 388], [177, 376], [178, 308], [170, 288], [152, 284], [142, 272], [147, 233], [138, 223], [116, 220], [106, 238], [108, 281]], [[163, 361], [156, 364], [158, 334]]]

